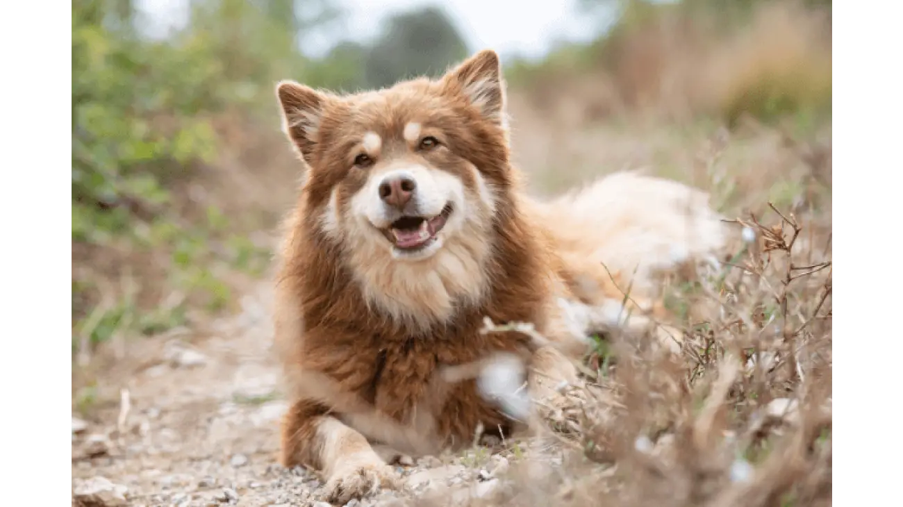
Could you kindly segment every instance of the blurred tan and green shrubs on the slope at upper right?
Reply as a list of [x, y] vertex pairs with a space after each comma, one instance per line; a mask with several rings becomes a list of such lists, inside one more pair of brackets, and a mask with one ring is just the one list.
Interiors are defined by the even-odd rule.
[[734, 124], [744, 114], [821, 113], [833, 97], [832, 19], [794, 0], [759, 3], [741, 21], [722, 11], [631, 3], [627, 21], [585, 58], [590, 72], [531, 77], [530, 106], [583, 122], [711, 115]]

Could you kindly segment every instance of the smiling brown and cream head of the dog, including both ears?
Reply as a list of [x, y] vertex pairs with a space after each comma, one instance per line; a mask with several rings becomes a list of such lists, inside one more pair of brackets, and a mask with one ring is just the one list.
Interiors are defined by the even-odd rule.
[[310, 171], [321, 230], [353, 253], [423, 263], [486, 242], [509, 185], [504, 83], [481, 51], [437, 80], [337, 97], [294, 82], [277, 96]]

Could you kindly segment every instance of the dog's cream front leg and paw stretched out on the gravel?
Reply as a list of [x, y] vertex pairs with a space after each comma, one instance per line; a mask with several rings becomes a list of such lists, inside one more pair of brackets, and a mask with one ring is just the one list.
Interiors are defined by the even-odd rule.
[[367, 438], [311, 401], [297, 401], [285, 414], [281, 461], [283, 466], [306, 465], [320, 471], [326, 480], [326, 500], [339, 505], [400, 484], [395, 470]]

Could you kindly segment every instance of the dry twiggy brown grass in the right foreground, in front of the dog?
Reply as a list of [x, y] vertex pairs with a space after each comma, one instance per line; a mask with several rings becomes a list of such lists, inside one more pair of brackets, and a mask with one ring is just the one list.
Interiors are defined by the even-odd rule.
[[735, 222], [746, 240], [720, 272], [666, 287], [685, 308], [680, 353], [605, 336], [470, 504], [833, 504], [832, 237], [768, 210]]

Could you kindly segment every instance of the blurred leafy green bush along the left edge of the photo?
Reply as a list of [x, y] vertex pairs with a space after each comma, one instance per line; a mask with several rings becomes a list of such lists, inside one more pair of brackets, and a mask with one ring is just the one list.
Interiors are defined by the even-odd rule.
[[[191, 298], [219, 309], [229, 300], [222, 264], [265, 266], [265, 252], [215, 202], [187, 189], [219, 160], [217, 118], [269, 113], [276, 77], [304, 64], [293, 34], [249, 3], [201, 4], [190, 29], [165, 41], [138, 36], [116, 4], [76, 0], [71, 8], [70, 281], [77, 330], [94, 340], [125, 320], [144, 332], [179, 324]], [[229, 28], [237, 32], [224, 37]], [[133, 277], [135, 294], [126, 297], [120, 282]], [[98, 310], [111, 292], [114, 302]], [[185, 296], [168, 308], [172, 293]], [[91, 313], [97, 322], [88, 328]]]

